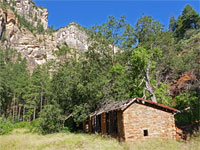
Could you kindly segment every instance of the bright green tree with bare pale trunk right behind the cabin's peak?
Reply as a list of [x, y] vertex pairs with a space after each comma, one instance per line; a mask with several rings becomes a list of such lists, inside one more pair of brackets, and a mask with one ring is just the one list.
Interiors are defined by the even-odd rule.
[[[153, 50], [147, 50], [143, 47], [139, 47], [134, 49], [132, 56], [131, 56], [131, 63], [133, 71], [133, 79], [134, 81], [134, 87], [137, 92], [134, 92], [136, 94], [141, 95], [143, 93], [143, 97], [146, 98], [145, 90], [148, 91], [148, 96], [153, 102], [157, 102], [153, 86], [151, 84], [152, 80], [152, 72], [155, 70], [156, 67], [156, 58], [160, 57], [161, 51], [157, 48]], [[143, 84], [145, 82], [145, 85]], [[138, 91], [143, 90], [143, 92], [138, 93]], [[137, 95], [135, 95], [137, 96]]]

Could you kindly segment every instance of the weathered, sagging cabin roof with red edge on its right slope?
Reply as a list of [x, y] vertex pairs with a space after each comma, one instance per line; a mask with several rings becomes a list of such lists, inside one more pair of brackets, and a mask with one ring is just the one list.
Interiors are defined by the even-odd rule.
[[160, 108], [165, 108], [167, 110], [170, 110], [172, 112], [179, 112], [179, 110], [172, 108], [172, 107], [168, 107], [165, 106], [163, 104], [159, 104], [159, 103], [155, 103], [152, 102], [150, 100], [146, 100], [140, 97], [136, 97], [136, 98], [131, 98], [129, 100], [124, 100], [124, 101], [114, 101], [112, 103], [106, 104], [103, 107], [101, 107], [99, 110], [93, 112], [92, 114], [90, 114], [90, 117], [95, 116], [95, 115], [100, 115], [104, 112], [109, 112], [109, 111], [113, 111], [113, 110], [125, 110], [126, 108], [128, 108], [131, 104], [133, 104], [134, 102], [142, 102], [143, 104], [152, 104], [155, 106], [158, 106]]

